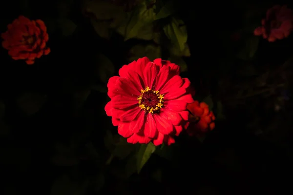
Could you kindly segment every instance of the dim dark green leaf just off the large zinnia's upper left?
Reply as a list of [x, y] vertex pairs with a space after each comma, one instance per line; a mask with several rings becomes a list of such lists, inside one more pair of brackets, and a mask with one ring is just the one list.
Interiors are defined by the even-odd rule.
[[115, 72], [115, 67], [112, 61], [103, 54], [97, 54], [96, 63], [98, 64], [98, 77], [101, 81], [107, 83], [108, 79], [112, 77]]

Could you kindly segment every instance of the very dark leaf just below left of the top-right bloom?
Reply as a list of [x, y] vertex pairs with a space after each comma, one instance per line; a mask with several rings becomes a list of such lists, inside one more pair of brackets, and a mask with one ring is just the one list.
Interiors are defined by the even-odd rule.
[[243, 43], [243, 48], [237, 54], [239, 59], [251, 60], [258, 48], [259, 38], [256, 36], [248, 37]]

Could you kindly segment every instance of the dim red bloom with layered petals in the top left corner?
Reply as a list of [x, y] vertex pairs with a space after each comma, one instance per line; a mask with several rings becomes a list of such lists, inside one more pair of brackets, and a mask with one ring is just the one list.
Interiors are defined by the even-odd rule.
[[8, 30], [1, 34], [2, 46], [8, 50], [12, 59], [24, 59], [33, 64], [36, 58], [50, 53], [46, 47], [49, 39], [47, 28], [42, 20], [29, 20], [20, 16], [7, 26]]

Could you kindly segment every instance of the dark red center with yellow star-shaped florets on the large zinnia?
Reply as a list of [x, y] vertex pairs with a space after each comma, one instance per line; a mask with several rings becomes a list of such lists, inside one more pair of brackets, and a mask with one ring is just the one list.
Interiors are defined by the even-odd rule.
[[137, 98], [139, 107], [145, 112], [154, 114], [162, 108], [164, 94], [159, 91], [151, 90], [146, 86], [146, 89], [141, 90], [142, 94]]

